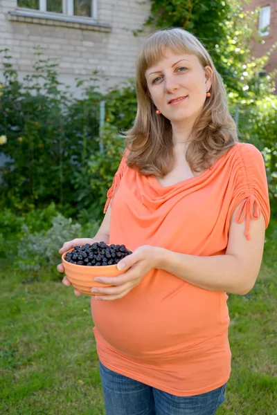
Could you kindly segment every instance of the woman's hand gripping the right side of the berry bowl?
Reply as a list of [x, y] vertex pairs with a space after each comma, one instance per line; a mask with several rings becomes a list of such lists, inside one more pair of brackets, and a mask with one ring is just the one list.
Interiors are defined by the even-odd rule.
[[[156, 268], [157, 247], [143, 245], [136, 248], [134, 252], [118, 262], [119, 270], [127, 270], [118, 277], [96, 277], [94, 281], [101, 284], [109, 284], [111, 287], [93, 287], [91, 293], [96, 293], [95, 299], [118, 299], [124, 297], [149, 273], [152, 268]], [[129, 268], [129, 269], [128, 269]]]

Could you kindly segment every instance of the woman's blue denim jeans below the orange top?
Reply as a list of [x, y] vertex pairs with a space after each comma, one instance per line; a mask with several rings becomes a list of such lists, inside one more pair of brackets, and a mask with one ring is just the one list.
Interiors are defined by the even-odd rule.
[[175, 396], [117, 374], [100, 362], [106, 415], [215, 415], [226, 384], [195, 396]]

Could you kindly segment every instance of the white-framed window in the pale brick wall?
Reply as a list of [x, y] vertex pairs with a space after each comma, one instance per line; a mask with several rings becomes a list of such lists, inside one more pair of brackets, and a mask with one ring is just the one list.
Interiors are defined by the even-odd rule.
[[63, 13], [69, 16], [96, 19], [96, 0], [17, 0], [17, 6], [40, 12]]

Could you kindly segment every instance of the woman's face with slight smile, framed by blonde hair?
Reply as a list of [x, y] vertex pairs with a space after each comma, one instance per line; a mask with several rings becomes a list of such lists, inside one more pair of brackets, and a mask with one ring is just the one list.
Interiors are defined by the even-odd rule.
[[196, 55], [176, 55], [169, 48], [164, 55], [145, 71], [152, 101], [172, 123], [195, 120], [211, 88], [213, 70], [206, 66], [205, 71]]

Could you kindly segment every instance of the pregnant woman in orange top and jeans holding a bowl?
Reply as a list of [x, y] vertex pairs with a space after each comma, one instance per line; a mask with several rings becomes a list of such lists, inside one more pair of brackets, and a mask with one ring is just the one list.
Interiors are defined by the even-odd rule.
[[265, 164], [238, 142], [222, 78], [186, 30], [145, 40], [136, 93], [102, 225], [60, 253], [93, 241], [134, 251], [123, 275], [97, 278], [112, 286], [91, 282], [106, 414], [214, 415], [231, 372], [226, 293], [248, 293], [262, 261]]

